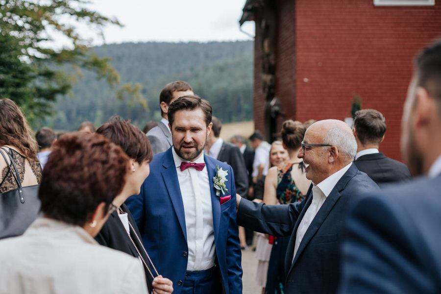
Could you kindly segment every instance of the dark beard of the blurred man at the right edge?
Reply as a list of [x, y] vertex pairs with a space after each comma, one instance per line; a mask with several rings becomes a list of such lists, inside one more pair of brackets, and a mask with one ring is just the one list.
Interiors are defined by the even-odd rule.
[[417, 148], [417, 144], [414, 137], [414, 131], [411, 126], [408, 126], [409, 130], [403, 137], [401, 142], [402, 153], [404, 161], [407, 163], [410, 172], [413, 176], [421, 175], [423, 171], [423, 158], [421, 152]]

